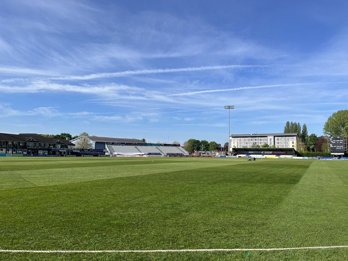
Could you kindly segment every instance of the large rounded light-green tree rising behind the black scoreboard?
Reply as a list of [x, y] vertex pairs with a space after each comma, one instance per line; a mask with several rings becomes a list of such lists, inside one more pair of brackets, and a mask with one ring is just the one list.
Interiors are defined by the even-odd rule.
[[348, 129], [348, 110], [339, 110], [325, 122], [323, 132], [329, 136], [347, 136]]

